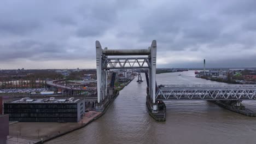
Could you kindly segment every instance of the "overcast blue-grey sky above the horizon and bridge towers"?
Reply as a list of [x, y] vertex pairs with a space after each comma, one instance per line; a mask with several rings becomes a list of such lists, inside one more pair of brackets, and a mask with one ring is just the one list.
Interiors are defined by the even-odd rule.
[[95, 41], [147, 49], [157, 67], [256, 67], [256, 1], [9, 1], [0, 69], [96, 68]]

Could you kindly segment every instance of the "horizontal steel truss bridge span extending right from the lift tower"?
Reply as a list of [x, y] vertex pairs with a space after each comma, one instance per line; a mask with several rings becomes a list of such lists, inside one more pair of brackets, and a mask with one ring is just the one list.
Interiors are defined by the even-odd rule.
[[256, 86], [161, 85], [156, 100], [256, 100]]

